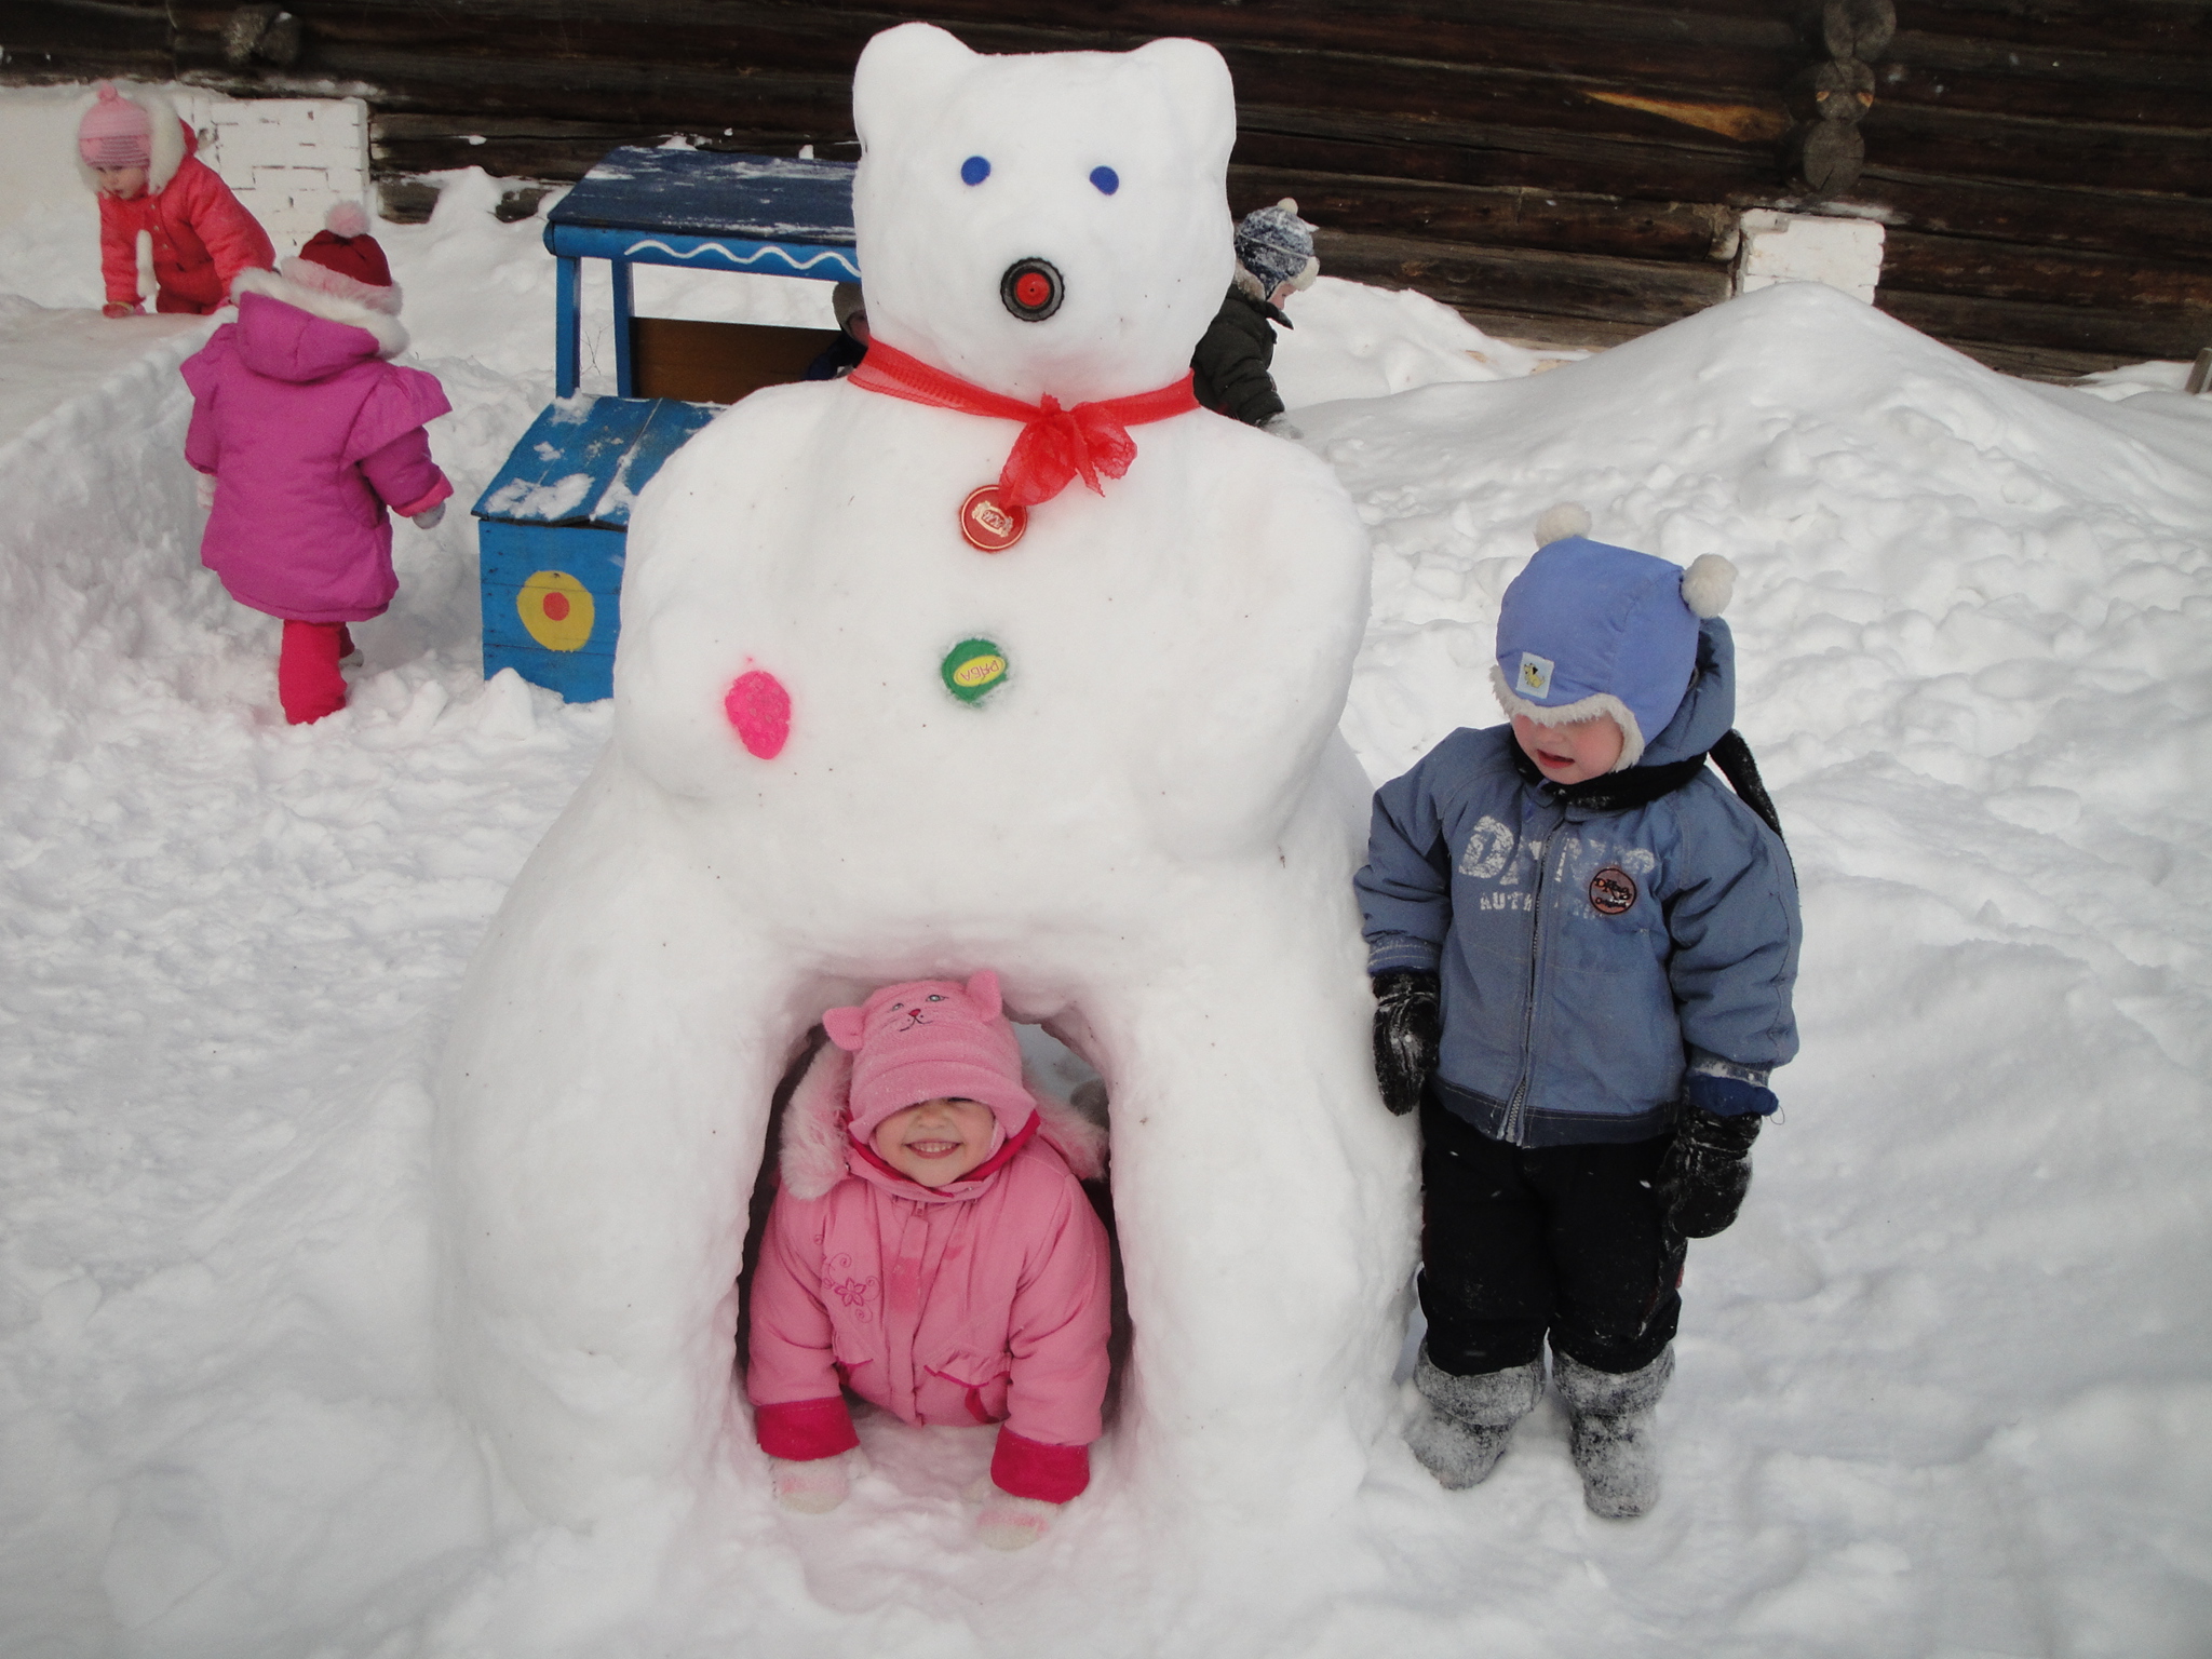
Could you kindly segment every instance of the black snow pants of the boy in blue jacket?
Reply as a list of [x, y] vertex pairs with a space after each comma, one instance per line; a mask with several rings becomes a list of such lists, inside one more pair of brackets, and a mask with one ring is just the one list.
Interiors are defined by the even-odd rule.
[[1637, 1371], [1674, 1340], [1683, 1245], [1652, 1177], [1668, 1135], [1509, 1146], [1420, 1102], [1420, 1310], [1429, 1360], [1453, 1376], [1566, 1354]]

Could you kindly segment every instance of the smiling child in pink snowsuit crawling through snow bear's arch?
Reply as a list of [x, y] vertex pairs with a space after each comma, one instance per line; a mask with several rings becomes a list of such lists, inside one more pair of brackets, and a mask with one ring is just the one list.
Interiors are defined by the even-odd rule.
[[1024, 1086], [995, 973], [889, 984], [823, 1026], [752, 1283], [776, 1498], [843, 1502], [852, 1389], [916, 1425], [998, 1422], [978, 1535], [1020, 1548], [1091, 1480], [1108, 1245], [1077, 1175], [1104, 1135]]

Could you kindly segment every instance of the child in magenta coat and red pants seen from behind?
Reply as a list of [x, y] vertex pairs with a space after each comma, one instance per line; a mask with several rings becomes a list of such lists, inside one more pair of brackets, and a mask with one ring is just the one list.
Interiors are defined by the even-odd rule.
[[398, 593], [392, 520], [429, 529], [453, 484], [425, 422], [451, 405], [407, 347], [392, 281], [358, 204], [332, 210], [283, 274], [239, 276], [239, 321], [184, 363], [184, 458], [215, 476], [199, 557], [230, 597], [283, 617], [276, 695], [294, 726], [345, 708], [345, 624]]

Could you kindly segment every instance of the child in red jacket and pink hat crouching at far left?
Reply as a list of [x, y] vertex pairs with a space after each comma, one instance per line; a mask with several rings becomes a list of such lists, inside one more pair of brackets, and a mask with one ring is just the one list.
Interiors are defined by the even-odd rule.
[[270, 270], [276, 248], [261, 223], [230, 195], [215, 168], [197, 159], [199, 137], [177, 119], [161, 93], [100, 95], [77, 122], [77, 173], [100, 197], [100, 274], [106, 314], [139, 307], [137, 239], [153, 237], [157, 312], [206, 316], [243, 270]]

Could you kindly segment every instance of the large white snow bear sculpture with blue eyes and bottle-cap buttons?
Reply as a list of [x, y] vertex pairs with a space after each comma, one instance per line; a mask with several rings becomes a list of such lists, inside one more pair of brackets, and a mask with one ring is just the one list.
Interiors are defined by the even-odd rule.
[[1077, 427], [1137, 398], [1126, 469], [1108, 434], [1095, 489], [1075, 465], [987, 553], [1018, 502], [962, 509], [1015, 420], [814, 383], [655, 478], [613, 737], [440, 1077], [453, 1387], [549, 1517], [754, 1458], [732, 1281], [776, 1079], [825, 1006], [991, 967], [1110, 1095], [1135, 1352], [1102, 1498], [1343, 1498], [1411, 1261], [1349, 885], [1367, 783], [1336, 737], [1365, 531], [1303, 449], [1148, 414], [1188, 405], [1230, 281], [1228, 69], [905, 24], [854, 113], [876, 341]]

